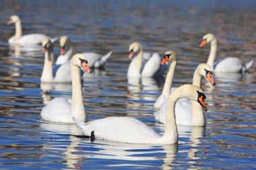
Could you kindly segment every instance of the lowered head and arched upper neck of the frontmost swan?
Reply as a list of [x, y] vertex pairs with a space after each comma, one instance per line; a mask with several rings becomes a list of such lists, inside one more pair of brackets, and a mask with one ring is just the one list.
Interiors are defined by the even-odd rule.
[[170, 94], [169, 99], [178, 100], [183, 97], [188, 97], [189, 99], [197, 101], [204, 108], [204, 110], [207, 111], [207, 106], [204, 101], [206, 97], [205, 94], [203, 93], [203, 90], [200, 87], [189, 84], [181, 85]]

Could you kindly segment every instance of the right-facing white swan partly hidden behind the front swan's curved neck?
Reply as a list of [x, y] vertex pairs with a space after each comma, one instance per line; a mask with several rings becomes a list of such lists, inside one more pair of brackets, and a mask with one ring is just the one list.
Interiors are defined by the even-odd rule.
[[[201, 88], [202, 77], [207, 78], [212, 85], [215, 85], [214, 78], [212, 77], [212, 68], [201, 63], [195, 69], [193, 75], [193, 85]], [[169, 86], [170, 88], [170, 86]], [[174, 89], [172, 88], [172, 91]], [[166, 102], [163, 102], [160, 106], [160, 110], [154, 114], [155, 119], [158, 122], [165, 124], [166, 122]], [[186, 126], [205, 126], [205, 115], [203, 108], [196, 101], [191, 101], [190, 99], [181, 99], [177, 101], [175, 107], [176, 122], [179, 125]]]

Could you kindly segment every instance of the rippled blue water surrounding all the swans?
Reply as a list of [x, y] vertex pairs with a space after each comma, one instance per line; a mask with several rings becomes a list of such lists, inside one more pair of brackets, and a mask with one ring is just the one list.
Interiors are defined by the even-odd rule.
[[[125, 144], [95, 140], [75, 124], [40, 118], [54, 97], [71, 98], [71, 83], [40, 83], [41, 47], [9, 46], [20, 15], [23, 33], [67, 35], [73, 52], [106, 54], [104, 70], [92, 70], [83, 83], [89, 120], [127, 116], [162, 134], [153, 104], [160, 79], [127, 79], [128, 48], [139, 41], [147, 52], [175, 50], [179, 62], [174, 87], [191, 83], [206, 62], [209, 46], [199, 42], [211, 32], [218, 38], [218, 58], [256, 59], [255, 1], [1, 1], [0, 2], [0, 169], [255, 169], [256, 66], [246, 74], [216, 74], [207, 95], [206, 126], [179, 126], [179, 144]], [[55, 44], [56, 57], [60, 53]]]

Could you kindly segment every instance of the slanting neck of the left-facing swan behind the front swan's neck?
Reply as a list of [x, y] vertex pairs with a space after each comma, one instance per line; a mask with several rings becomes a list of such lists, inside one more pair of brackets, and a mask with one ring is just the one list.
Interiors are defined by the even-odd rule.
[[172, 87], [172, 80], [174, 77], [174, 71], [175, 71], [176, 65], [177, 65], [177, 61], [174, 60], [170, 64], [170, 69], [166, 75], [164, 89], [162, 89], [162, 95], [164, 95], [164, 97], [166, 97], [166, 99], [168, 99], [168, 96], [170, 95], [170, 88]]

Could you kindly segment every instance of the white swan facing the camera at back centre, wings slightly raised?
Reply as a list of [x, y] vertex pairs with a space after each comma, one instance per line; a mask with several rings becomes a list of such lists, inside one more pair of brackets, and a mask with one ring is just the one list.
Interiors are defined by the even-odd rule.
[[[158, 53], [152, 54], [151, 58], [143, 65], [143, 49], [139, 42], [133, 42], [129, 46], [129, 58], [133, 60], [129, 65], [127, 72], [128, 77], [156, 77], [162, 76], [164, 71], [168, 68], [167, 65], [160, 66], [161, 57]], [[156, 65], [159, 63], [159, 65]]]

